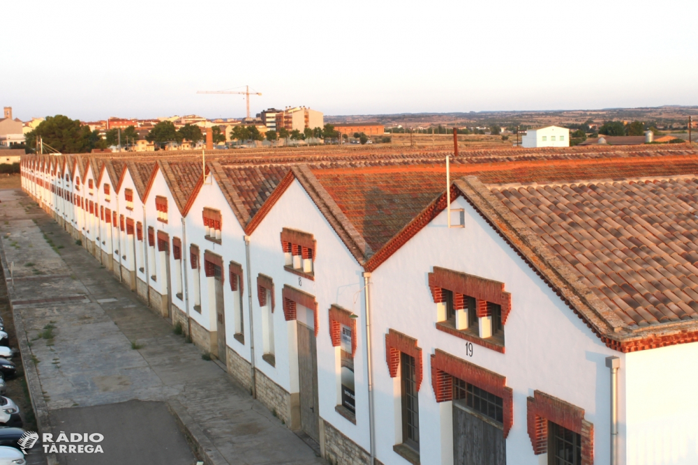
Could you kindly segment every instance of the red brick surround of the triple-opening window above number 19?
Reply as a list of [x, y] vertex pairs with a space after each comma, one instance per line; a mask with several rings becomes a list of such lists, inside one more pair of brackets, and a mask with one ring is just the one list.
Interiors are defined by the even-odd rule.
[[[505, 326], [507, 318], [512, 310], [512, 294], [504, 290], [504, 283], [488, 280], [487, 278], [449, 270], [447, 268], [433, 267], [429, 273], [429, 289], [434, 303], [445, 302], [444, 290], [451, 291], [454, 300], [454, 310], [462, 310], [465, 307], [465, 296], [475, 298], [475, 312], [478, 318], [490, 317], [492, 305], [501, 307], [501, 323]], [[436, 329], [449, 333], [461, 339], [487, 347], [500, 353], [505, 353], [503, 344], [497, 344], [493, 340], [482, 339], [468, 330], [458, 330], [446, 321], [438, 321]]]

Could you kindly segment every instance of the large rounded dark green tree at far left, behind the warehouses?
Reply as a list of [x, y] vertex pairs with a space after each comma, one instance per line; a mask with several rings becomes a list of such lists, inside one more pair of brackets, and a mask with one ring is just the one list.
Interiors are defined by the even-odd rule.
[[[40, 138], [45, 146], [50, 146], [61, 153], [86, 153], [91, 151], [90, 137], [92, 131], [88, 126], [83, 126], [77, 119], [57, 114], [46, 116], [36, 129], [25, 136], [27, 147], [36, 147]], [[50, 152], [48, 148], [44, 152]]]

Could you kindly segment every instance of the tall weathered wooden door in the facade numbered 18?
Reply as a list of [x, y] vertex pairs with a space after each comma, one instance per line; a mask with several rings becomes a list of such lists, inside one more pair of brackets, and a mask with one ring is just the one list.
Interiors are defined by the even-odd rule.
[[320, 442], [318, 407], [318, 348], [315, 331], [300, 321], [298, 325], [298, 375], [301, 404], [301, 428]]

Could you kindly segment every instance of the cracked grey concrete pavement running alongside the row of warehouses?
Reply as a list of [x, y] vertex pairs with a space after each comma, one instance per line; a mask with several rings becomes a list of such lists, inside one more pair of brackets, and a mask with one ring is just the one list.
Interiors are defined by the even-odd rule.
[[209, 464], [325, 463], [31, 208], [29, 197], [6, 190], [0, 200], [3, 252], [6, 264], [14, 263], [10, 301], [31, 342], [27, 360], [36, 360], [40, 386], [30, 386], [32, 394], [42, 397], [49, 418], [57, 409], [165, 401]]

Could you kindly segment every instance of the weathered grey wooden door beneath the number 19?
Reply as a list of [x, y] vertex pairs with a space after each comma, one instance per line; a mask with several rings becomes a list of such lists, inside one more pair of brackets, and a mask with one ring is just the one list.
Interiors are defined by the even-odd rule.
[[496, 422], [453, 402], [453, 464], [505, 465], [507, 445]]

